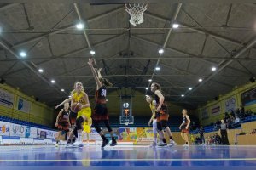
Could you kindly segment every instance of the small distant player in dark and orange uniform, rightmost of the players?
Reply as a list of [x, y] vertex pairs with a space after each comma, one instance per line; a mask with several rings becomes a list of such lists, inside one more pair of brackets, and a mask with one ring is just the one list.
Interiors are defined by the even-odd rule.
[[179, 129], [181, 129], [181, 136], [183, 140], [185, 140], [185, 144], [183, 146], [187, 147], [189, 146], [189, 124], [190, 119], [188, 115], [188, 111], [186, 109], [183, 109], [183, 123], [179, 126]]

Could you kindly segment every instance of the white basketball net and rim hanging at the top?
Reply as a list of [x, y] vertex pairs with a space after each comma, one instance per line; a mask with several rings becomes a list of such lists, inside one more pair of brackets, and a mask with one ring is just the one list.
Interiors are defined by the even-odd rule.
[[130, 23], [132, 26], [143, 23], [143, 13], [147, 10], [147, 8], [148, 4], [144, 3], [125, 4], [125, 11], [131, 16]]

